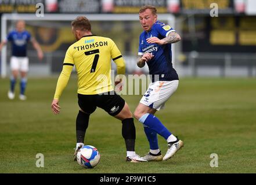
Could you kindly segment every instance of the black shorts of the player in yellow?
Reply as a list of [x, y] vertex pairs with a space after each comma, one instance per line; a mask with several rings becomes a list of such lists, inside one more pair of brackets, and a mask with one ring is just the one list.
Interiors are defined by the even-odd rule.
[[88, 114], [93, 113], [97, 107], [104, 109], [111, 116], [116, 116], [124, 108], [125, 101], [116, 92], [104, 92], [104, 94], [84, 95], [78, 94], [78, 105]]

